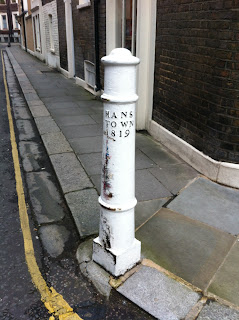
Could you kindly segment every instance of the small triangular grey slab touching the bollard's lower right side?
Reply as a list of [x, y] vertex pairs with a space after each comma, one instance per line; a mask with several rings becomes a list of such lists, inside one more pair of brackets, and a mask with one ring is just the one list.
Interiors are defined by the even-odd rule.
[[135, 228], [139, 228], [150, 219], [170, 198], [138, 202], [135, 207]]

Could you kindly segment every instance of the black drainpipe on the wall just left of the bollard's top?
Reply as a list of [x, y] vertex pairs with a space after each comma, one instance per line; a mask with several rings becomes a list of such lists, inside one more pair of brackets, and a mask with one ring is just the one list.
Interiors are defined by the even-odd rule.
[[101, 90], [100, 84], [100, 51], [99, 51], [99, 0], [94, 0], [95, 25], [95, 91]]

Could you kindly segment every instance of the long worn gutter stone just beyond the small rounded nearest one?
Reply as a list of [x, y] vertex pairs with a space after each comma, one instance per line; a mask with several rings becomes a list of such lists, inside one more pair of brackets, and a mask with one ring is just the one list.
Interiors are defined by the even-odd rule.
[[63, 199], [47, 172], [27, 173], [30, 199], [38, 224], [57, 222], [64, 218]]

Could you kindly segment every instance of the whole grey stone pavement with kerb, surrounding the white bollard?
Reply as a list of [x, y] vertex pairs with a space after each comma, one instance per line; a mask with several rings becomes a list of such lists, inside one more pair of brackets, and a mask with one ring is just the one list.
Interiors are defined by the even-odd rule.
[[[82, 272], [104, 294], [113, 286], [157, 319], [239, 319], [239, 190], [206, 179], [137, 133], [143, 260], [112, 279], [91, 261], [89, 239], [99, 224], [102, 103], [19, 46], [7, 52], [79, 234], [87, 237], [77, 252]], [[26, 123], [21, 134], [31, 134]], [[29, 150], [27, 165], [34, 161]]]

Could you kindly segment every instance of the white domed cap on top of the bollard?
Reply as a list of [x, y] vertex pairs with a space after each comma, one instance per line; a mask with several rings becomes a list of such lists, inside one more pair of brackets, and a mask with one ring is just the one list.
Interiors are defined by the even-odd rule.
[[132, 55], [132, 53], [125, 48], [116, 48], [111, 51], [108, 56], [101, 59], [103, 64], [113, 65], [137, 65], [139, 64], [139, 58]]

